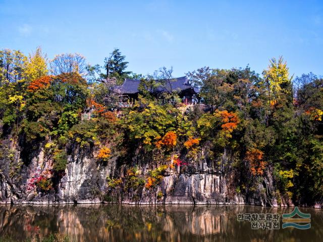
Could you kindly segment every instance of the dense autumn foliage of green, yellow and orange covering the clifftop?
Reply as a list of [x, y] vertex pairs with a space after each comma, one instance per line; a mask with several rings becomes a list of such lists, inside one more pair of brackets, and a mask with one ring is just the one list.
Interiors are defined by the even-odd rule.
[[[176, 92], [152, 96], [144, 87], [156, 83], [147, 77], [135, 105], [119, 108], [119, 96], [112, 91], [116, 82], [109, 76], [129, 74], [124, 59], [115, 50], [105, 60], [106, 81], [87, 82], [75, 67], [48, 76], [40, 49], [29, 58], [20, 51], [1, 50], [2, 141], [19, 139], [26, 157], [43, 146], [53, 160], [52, 176], [66, 170], [78, 146], [93, 152], [99, 164], [113, 157], [126, 164], [126, 189], [152, 189], [166, 169], [184, 172], [205, 158], [223, 172], [235, 169], [241, 193], [252, 191], [268, 171], [274, 175], [277, 197], [303, 204], [322, 200], [322, 78], [308, 74], [292, 80], [282, 57], [271, 59], [262, 76], [249, 67], [204, 67], [187, 74], [200, 88], [201, 104], [187, 109], [174, 101]], [[84, 113], [90, 118], [82, 120]], [[151, 168], [144, 178], [134, 170], [138, 150]], [[37, 186], [51, 189], [50, 178]], [[111, 188], [121, 186], [121, 178], [108, 179]]]

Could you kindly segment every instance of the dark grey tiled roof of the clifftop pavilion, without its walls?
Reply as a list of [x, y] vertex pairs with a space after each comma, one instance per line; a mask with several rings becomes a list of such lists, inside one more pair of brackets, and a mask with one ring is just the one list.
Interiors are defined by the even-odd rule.
[[[161, 80], [160, 82], [163, 82], [164, 85], [159, 86], [156, 91], [157, 92], [165, 92], [165, 91], [183, 91], [189, 88], [192, 88], [192, 85], [188, 83], [187, 77], [179, 77], [174, 78], [170, 82]], [[137, 93], [138, 86], [139, 86], [140, 80], [138, 79], [126, 79], [124, 83], [121, 86], [116, 86], [115, 90], [122, 94], [131, 94], [131, 93]], [[198, 90], [196, 88], [193, 88], [196, 93], [198, 93]]]

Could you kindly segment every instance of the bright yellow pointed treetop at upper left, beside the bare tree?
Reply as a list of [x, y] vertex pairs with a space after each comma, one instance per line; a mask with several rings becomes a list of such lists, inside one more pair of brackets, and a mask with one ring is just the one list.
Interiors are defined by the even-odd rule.
[[37, 47], [35, 52], [29, 54], [24, 76], [29, 83], [42, 76], [46, 76], [47, 73], [47, 56], [41, 52], [40, 47]]

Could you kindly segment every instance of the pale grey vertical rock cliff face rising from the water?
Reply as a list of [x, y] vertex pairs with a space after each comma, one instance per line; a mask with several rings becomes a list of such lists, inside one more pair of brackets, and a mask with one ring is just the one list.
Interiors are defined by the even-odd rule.
[[[200, 154], [198, 158], [187, 161], [190, 163], [189, 168], [178, 166], [167, 169], [158, 185], [148, 189], [143, 185], [130, 188], [125, 185], [127, 164], [120, 162], [118, 157], [111, 158], [105, 164], [98, 164], [91, 152], [84, 152], [77, 147], [68, 156], [65, 172], [60, 176], [51, 176], [52, 189], [42, 191], [31, 185], [35, 176], [46, 174], [52, 168], [53, 161], [46, 156], [43, 144], [30, 151], [28, 159], [24, 157], [25, 151], [15, 139], [5, 140], [1, 149], [1, 203], [292, 205], [284, 198], [279, 198], [278, 204], [270, 170], [265, 172], [263, 180], [252, 189], [240, 191], [240, 174], [232, 168], [230, 155], [226, 153], [221, 160], [214, 162], [207, 159], [207, 154]], [[140, 157], [140, 151], [137, 153], [132, 159], [132, 166], [136, 165], [141, 177], [146, 177], [149, 169], [160, 165], [158, 162], [145, 162]], [[223, 168], [223, 164], [226, 168]], [[106, 177], [121, 177], [121, 184], [111, 188]]]

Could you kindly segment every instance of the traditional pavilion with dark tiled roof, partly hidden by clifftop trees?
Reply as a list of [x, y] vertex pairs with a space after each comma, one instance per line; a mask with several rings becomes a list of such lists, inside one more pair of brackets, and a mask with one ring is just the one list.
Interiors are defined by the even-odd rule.
[[[198, 98], [198, 89], [188, 82], [187, 77], [174, 78], [170, 81], [161, 80], [159, 82], [162, 82], [163, 85], [151, 91], [154, 94], [176, 91], [183, 103], [187, 105], [192, 104]], [[140, 80], [138, 79], [125, 79], [121, 86], [115, 87], [115, 91], [123, 95], [124, 101], [127, 100], [128, 103], [135, 103], [138, 100], [139, 84]]]

